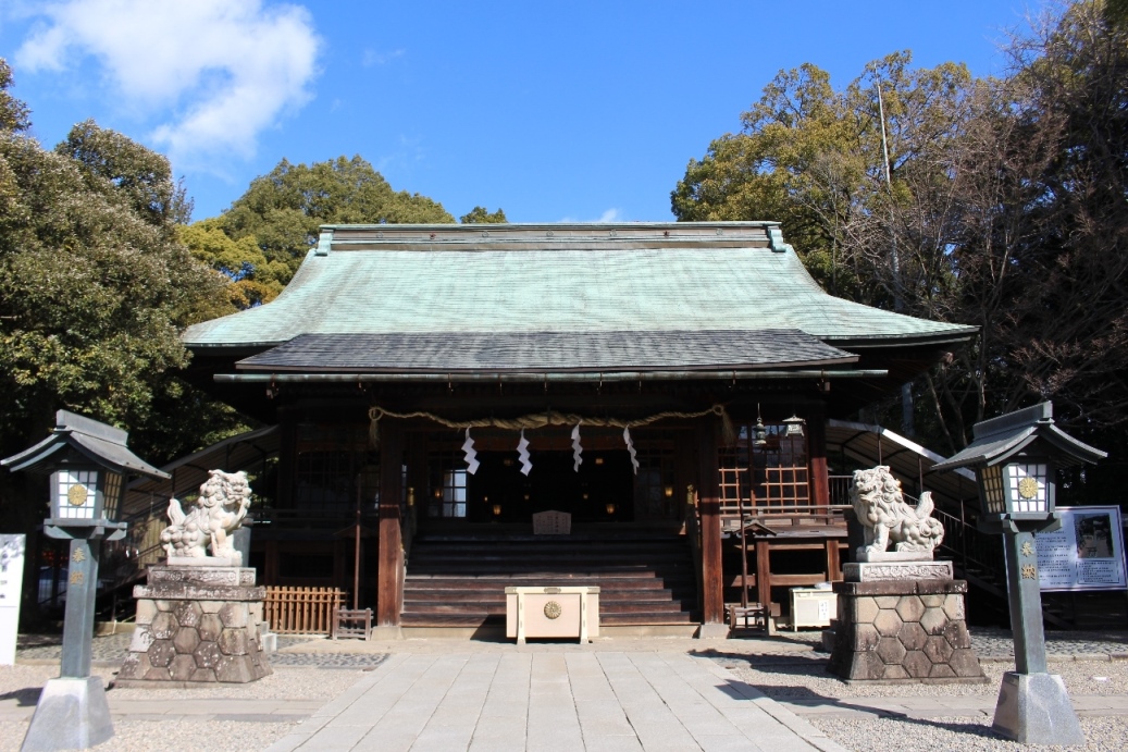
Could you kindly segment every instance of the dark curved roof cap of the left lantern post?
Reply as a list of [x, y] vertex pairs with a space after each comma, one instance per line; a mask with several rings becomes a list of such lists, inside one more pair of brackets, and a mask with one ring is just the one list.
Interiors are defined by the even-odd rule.
[[0, 460], [12, 472], [27, 470], [51, 473], [62, 465], [91, 462], [123, 474], [167, 479], [169, 474], [153, 467], [125, 446], [126, 431], [82, 416], [60, 410], [55, 427], [47, 438], [19, 454]]

